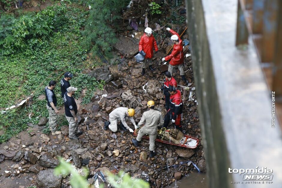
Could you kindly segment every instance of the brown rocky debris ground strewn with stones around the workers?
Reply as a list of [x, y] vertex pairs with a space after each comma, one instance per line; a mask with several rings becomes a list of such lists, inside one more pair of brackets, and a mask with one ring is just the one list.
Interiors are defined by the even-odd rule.
[[[185, 28], [184, 25], [170, 25], [179, 33]], [[156, 28], [153, 24], [149, 26]], [[131, 143], [135, 136], [129, 131], [118, 130], [112, 133], [103, 129], [109, 113], [121, 106], [134, 107], [136, 123], [147, 110], [148, 100], [154, 100], [155, 109], [161, 111], [163, 115], [166, 114], [164, 95], [159, 88], [163, 85], [161, 83], [164, 79], [163, 72], [167, 69], [163, 66], [161, 58], [165, 57], [172, 46], [170, 34], [165, 27], [155, 31], [159, 48], [159, 52], [153, 58], [155, 71], [146, 69], [145, 75], [141, 76], [141, 64], [134, 60], [134, 54], [138, 52], [138, 43], [144, 28], [139, 27], [138, 31], [135, 31], [127, 25], [124, 27], [126, 30], [119, 33], [119, 43], [115, 46], [116, 58], [94, 70], [85, 70], [85, 73], [97, 80], [105, 80], [107, 85], [104, 90], [97, 90], [94, 93], [91, 103], [80, 105], [79, 128], [83, 130], [83, 134], [79, 136], [79, 140], [68, 138], [67, 125], [61, 127], [62, 134], [57, 136], [42, 133], [41, 127], [46, 124], [47, 119], [41, 118], [39, 125], [34, 125], [28, 132], [20, 133], [1, 145], [1, 149], [15, 151], [16, 155], [12, 160], [6, 159], [0, 164], [0, 187], [26, 188], [33, 185], [44, 188], [69, 187], [69, 176], [53, 175], [54, 167], [58, 165], [57, 156], [72, 163], [78, 172], [82, 172], [82, 167], [86, 166], [90, 171], [88, 176], [90, 184], [94, 183], [95, 173], [102, 172], [105, 175], [106, 171], [117, 173], [124, 170], [133, 177], [148, 181], [151, 187], [166, 187], [194, 169], [191, 162], [180, 165], [187, 161], [192, 161], [201, 172], [206, 172], [190, 57], [184, 60], [184, 71], [190, 88], [178, 89], [182, 90], [184, 100], [183, 132], [200, 140], [196, 149], [156, 142], [157, 155], [149, 158], [149, 140], [143, 139], [141, 146], [135, 147]], [[167, 37], [162, 37], [163, 34]], [[184, 34], [181, 38], [188, 39], [188, 35]], [[184, 54], [188, 53], [189, 45], [184, 47]], [[173, 77], [179, 85], [184, 84], [179, 71], [174, 73]], [[144, 85], [146, 86], [143, 87]], [[130, 100], [122, 97], [123, 92], [131, 94]], [[130, 121], [128, 125], [134, 129]], [[172, 165], [175, 166], [168, 167]], [[98, 180], [101, 184], [101, 179]]]

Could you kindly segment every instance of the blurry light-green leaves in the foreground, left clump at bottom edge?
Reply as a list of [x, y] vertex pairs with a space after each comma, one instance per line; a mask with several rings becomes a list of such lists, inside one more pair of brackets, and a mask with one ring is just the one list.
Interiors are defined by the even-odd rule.
[[70, 163], [67, 163], [64, 161], [63, 158], [59, 157], [60, 164], [55, 168], [54, 174], [59, 176], [59, 175], [64, 175], [67, 176], [71, 174], [70, 176], [70, 184], [71, 187], [73, 188], [88, 188], [88, 182], [86, 180], [88, 176], [88, 169], [83, 168], [83, 176], [80, 175], [71, 165]]

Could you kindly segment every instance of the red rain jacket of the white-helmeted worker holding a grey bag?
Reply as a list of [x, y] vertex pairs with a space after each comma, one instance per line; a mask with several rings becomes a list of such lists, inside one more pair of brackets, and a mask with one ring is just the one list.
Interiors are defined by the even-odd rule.
[[151, 59], [153, 57], [154, 55], [153, 46], [155, 51], [157, 52], [158, 46], [155, 37], [153, 35], [147, 37], [146, 33], [144, 33], [143, 36], [140, 38], [139, 51], [143, 50], [146, 53], [145, 55], [146, 59]]

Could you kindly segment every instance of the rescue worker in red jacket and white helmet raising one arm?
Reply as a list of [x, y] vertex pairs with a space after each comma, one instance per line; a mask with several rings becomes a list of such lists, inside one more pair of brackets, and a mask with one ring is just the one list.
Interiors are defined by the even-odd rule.
[[179, 34], [173, 31], [171, 28], [167, 27], [167, 31], [170, 31], [170, 33], [173, 34], [170, 37], [170, 39], [174, 43], [174, 45], [173, 45], [173, 51], [171, 52], [171, 54], [162, 58], [162, 61], [170, 60], [168, 71], [172, 74], [173, 70], [175, 70], [177, 67], [180, 71], [180, 76], [182, 80], [187, 85], [187, 80], [186, 80], [184, 70], [183, 70], [184, 52], [183, 52], [182, 40], [180, 39]]

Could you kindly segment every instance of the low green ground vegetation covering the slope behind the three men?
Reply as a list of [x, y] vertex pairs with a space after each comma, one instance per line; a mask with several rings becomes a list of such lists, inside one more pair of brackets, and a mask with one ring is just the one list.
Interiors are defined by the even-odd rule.
[[[86, 63], [85, 61], [88, 50], [81, 45], [85, 37], [81, 35], [80, 30], [85, 23], [86, 13], [80, 8], [62, 6], [45, 9], [45, 14], [48, 14], [48, 16], [49, 13], [52, 16], [52, 12], [49, 10], [54, 10], [54, 17], [57, 15], [56, 19], [61, 21], [56, 21], [58, 25], [54, 26], [52, 34], [37, 38], [42, 41], [41, 44], [35, 44], [30, 49], [28, 43], [31, 39], [28, 38], [27, 40], [22, 40], [28, 46], [24, 50], [17, 49], [17, 53], [12, 53], [15, 50], [13, 47], [11, 51], [8, 48], [0, 50], [0, 108], [10, 107], [26, 99], [27, 96], [34, 92], [31, 106], [26, 105], [22, 108], [8, 110], [4, 114], [0, 113], [0, 131], [3, 132], [0, 135], [0, 143], [6, 142], [12, 136], [26, 130], [28, 127], [27, 123], [37, 124], [41, 117], [48, 117], [46, 100], [39, 100], [38, 96], [44, 94], [44, 87], [48, 85], [51, 79], [58, 82], [55, 94], [58, 99], [57, 106], [61, 106], [63, 104], [59, 84], [62, 78], [61, 74], [65, 71], [70, 71], [77, 75], [77, 78], [80, 80], [83, 77], [81, 72], [88, 67], [92, 67], [91, 62]], [[59, 14], [61, 9], [64, 9], [63, 14]], [[24, 14], [22, 16], [29, 15], [36, 14]], [[18, 18], [6, 16], [7, 19], [3, 18], [5, 15], [1, 16], [2, 21], [6, 25], [13, 25], [11, 22], [19, 18], [23, 19], [22, 16]], [[3, 39], [11, 30], [13, 28], [3, 27], [0, 31], [0, 38]], [[89, 91], [86, 91], [85, 99], [82, 100], [83, 103], [90, 100], [95, 87], [103, 85], [103, 82], [97, 82], [87, 75], [86, 77], [85, 82], [77, 82], [77, 84], [76, 76], [71, 80], [71, 84], [76, 84], [75, 86], [80, 91], [85, 87], [87, 89], [90, 88]], [[40, 86], [42, 82], [43, 84]], [[79, 94], [77, 93], [76, 95], [78, 96]], [[63, 115], [59, 116], [58, 124], [58, 128], [62, 125], [67, 125]]]

